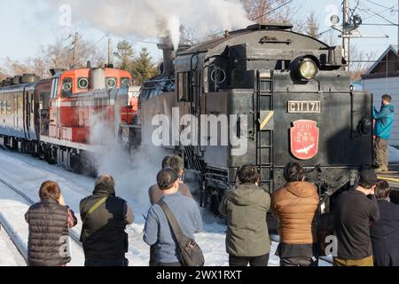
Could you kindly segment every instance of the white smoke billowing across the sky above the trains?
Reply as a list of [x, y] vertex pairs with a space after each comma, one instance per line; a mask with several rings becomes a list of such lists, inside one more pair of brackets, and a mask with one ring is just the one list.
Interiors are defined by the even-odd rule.
[[114, 36], [170, 36], [175, 44], [181, 25], [203, 37], [250, 24], [239, 0], [48, 0], [45, 4], [54, 12], [61, 4], [69, 4], [74, 26]]

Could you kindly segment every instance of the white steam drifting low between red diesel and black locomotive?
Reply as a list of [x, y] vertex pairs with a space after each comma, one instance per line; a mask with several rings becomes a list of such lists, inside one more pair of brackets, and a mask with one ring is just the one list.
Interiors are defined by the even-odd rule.
[[108, 150], [94, 154], [90, 160], [99, 175], [113, 176], [117, 196], [134, 200], [136, 205], [146, 208], [150, 204], [148, 189], [156, 184], [161, 162], [168, 153], [162, 148], [140, 146], [129, 154], [115, 137], [113, 125], [106, 122], [106, 114], [100, 112], [91, 117], [90, 144], [106, 146]]

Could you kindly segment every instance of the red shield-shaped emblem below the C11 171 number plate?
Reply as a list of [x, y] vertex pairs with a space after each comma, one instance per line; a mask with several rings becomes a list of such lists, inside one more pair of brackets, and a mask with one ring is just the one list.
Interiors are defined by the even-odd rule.
[[300, 160], [309, 160], [318, 153], [319, 129], [317, 122], [301, 120], [291, 128], [291, 153]]

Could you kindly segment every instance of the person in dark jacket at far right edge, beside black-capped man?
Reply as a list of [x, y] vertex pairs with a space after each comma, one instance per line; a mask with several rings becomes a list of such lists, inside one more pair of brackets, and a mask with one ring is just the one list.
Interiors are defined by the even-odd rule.
[[370, 228], [375, 266], [399, 266], [399, 205], [389, 201], [391, 190], [385, 180], [379, 180], [376, 196], [380, 219]]

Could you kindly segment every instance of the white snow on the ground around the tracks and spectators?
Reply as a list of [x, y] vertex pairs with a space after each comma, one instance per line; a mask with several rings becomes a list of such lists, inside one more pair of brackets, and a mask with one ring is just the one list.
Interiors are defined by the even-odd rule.
[[[145, 225], [143, 215], [146, 216], [150, 208], [147, 189], [155, 183], [153, 173], [158, 171], [158, 169], [155, 169], [153, 165], [149, 165], [148, 161], [151, 160], [149, 156], [144, 159], [142, 161], [146, 161], [143, 162], [145, 165], [140, 165], [142, 169], [138, 170], [137, 173], [131, 170], [119, 173], [113, 172], [112, 169], [103, 171], [113, 174], [117, 195], [129, 201], [136, 216], [135, 224], [127, 227], [127, 232], [129, 233], [129, 252], [127, 257], [130, 265], [133, 266], [146, 266], [149, 260], [150, 249], [143, 241]], [[157, 164], [160, 164], [160, 162], [155, 163], [155, 165]], [[113, 167], [112, 162], [111, 167]], [[0, 177], [16, 186], [34, 201], [39, 200], [38, 189], [43, 181], [54, 180], [59, 183], [66, 203], [71, 209], [74, 209], [78, 216], [79, 202], [83, 197], [90, 195], [94, 185], [94, 179], [91, 177], [76, 175], [29, 155], [6, 152], [4, 150], [0, 150]], [[22, 240], [27, 240], [27, 224], [24, 221], [24, 214], [27, 208], [27, 204], [18, 195], [12, 193], [6, 186], [0, 186], [0, 211], [10, 220], [16, 231], [21, 234]], [[196, 239], [204, 250], [206, 265], [226, 266], [228, 265], [228, 255], [225, 252], [226, 226], [224, 221], [219, 217], [215, 217], [207, 209], [201, 209], [201, 212], [204, 219], [204, 230], [202, 233], [196, 234]], [[74, 235], [80, 235], [81, 225], [81, 222], [79, 222], [73, 229]], [[82, 251], [74, 248], [74, 241], [70, 241], [70, 243], [73, 256], [71, 265], [82, 265], [84, 261]], [[278, 256], [274, 256], [276, 248], [277, 243], [273, 243], [270, 265], [278, 265]]]

